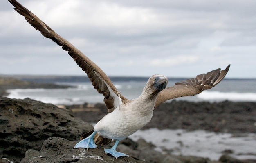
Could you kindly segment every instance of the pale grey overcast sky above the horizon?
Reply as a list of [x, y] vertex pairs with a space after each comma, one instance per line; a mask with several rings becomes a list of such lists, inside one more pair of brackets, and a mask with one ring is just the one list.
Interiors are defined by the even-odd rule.
[[[255, 0], [19, 0], [110, 76], [256, 78]], [[0, 74], [84, 75], [7, 0]]]

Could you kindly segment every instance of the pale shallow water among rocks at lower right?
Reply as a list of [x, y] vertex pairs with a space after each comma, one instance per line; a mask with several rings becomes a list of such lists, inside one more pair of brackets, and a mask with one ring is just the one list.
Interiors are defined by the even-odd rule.
[[175, 155], [193, 155], [218, 160], [224, 150], [232, 150], [238, 159], [256, 159], [256, 134], [248, 133], [234, 137], [230, 133], [213, 133], [204, 130], [186, 131], [139, 130], [130, 135], [134, 141], [139, 138], [153, 143], [160, 152], [168, 150]]

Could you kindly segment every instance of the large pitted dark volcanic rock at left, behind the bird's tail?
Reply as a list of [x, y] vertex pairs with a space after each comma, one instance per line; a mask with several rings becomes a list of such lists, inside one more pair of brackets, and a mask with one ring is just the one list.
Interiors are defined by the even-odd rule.
[[91, 129], [69, 109], [29, 98], [0, 97], [0, 156], [12, 161], [20, 161], [28, 149], [40, 150], [49, 137], [76, 141]]

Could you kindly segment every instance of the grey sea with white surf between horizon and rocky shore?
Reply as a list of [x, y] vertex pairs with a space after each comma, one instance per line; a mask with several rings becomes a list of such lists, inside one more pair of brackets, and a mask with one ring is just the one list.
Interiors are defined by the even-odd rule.
[[[53, 82], [56, 80], [52, 80]], [[168, 86], [174, 85], [180, 79], [172, 78]], [[51, 80], [47, 80], [51, 82]], [[103, 103], [103, 95], [99, 94], [88, 81], [56, 81], [58, 85], [71, 85], [66, 89], [11, 89], [9, 98], [31, 98], [56, 105], [65, 104], [94, 104]], [[122, 80], [113, 82], [118, 91], [128, 99], [137, 98], [146, 84], [146, 80]], [[224, 100], [239, 102], [256, 102], [256, 79], [224, 79], [212, 89], [203, 91], [196, 96], [176, 98], [191, 102]]]

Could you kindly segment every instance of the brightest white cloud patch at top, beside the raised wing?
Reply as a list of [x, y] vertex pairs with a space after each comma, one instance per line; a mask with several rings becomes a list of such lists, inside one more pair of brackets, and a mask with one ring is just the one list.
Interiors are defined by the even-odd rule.
[[53, 27], [126, 28], [128, 31], [128, 27], [155, 24], [157, 21], [151, 9], [126, 7], [108, 1], [45, 0], [31, 1], [27, 6]]

